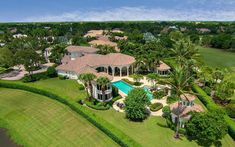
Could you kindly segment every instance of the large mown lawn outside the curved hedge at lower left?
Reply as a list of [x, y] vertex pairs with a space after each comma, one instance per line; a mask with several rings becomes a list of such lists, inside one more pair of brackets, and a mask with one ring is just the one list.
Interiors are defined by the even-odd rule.
[[59, 102], [20, 90], [0, 88], [0, 93], [0, 120], [7, 124], [11, 136], [26, 146], [117, 146]]

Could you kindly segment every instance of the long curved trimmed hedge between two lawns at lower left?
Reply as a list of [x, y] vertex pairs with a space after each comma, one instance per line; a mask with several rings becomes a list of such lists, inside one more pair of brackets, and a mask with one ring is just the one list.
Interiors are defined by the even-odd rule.
[[132, 138], [124, 134], [121, 130], [117, 129], [112, 124], [108, 123], [101, 117], [98, 117], [97, 115], [95, 115], [89, 109], [79, 105], [78, 103], [74, 101], [69, 101], [49, 91], [45, 91], [42, 89], [38, 89], [38, 88], [34, 88], [34, 87], [30, 87], [30, 86], [26, 86], [26, 85], [18, 84], [18, 83], [0, 81], [0, 87], [25, 90], [25, 91], [44, 95], [51, 99], [57, 100], [69, 106], [73, 111], [83, 116], [85, 119], [87, 119], [90, 123], [92, 123], [97, 128], [99, 128], [101, 131], [103, 131], [107, 136], [113, 139], [120, 146], [140, 146], [140, 144], [138, 144], [135, 140], [133, 140]]

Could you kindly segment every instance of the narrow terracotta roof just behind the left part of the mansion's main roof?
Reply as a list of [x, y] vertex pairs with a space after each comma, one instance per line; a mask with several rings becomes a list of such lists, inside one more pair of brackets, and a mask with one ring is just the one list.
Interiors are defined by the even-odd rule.
[[66, 50], [68, 52], [86, 52], [86, 53], [96, 53], [99, 49], [94, 47], [88, 47], [88, 46], [73, 46], [70, 45], [66, 47]]

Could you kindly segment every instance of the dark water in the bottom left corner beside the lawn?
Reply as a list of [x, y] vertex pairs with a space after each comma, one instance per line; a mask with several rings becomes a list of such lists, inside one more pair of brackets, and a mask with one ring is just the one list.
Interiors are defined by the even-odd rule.
[[20, 147], [7, 135], [6, 129], [0, 128], [0, 147]]

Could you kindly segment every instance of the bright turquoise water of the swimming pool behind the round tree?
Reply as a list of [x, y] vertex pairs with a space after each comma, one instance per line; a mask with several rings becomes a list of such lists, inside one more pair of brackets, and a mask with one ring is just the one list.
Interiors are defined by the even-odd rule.
[[[112, 85], [117, 87], [120, 91], [122, 91], [125, 94], [128, 94], [132, 89], [134, 89], [134, 87], [132, 87], [131, 85], [129, 85], [128, 83], [126, 83], [122, 80], [113, 82]], [[153, 99], [152, 92], [148, 89], [148, 87], [145, 87], [145, 86], [144, 86], [144, 90], [146, 91], [149, 99], [152, 100]]]

